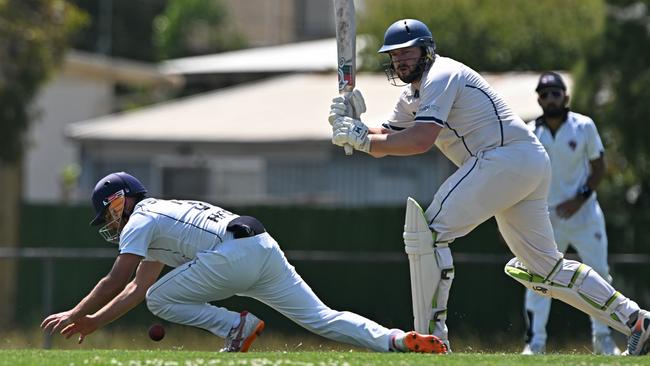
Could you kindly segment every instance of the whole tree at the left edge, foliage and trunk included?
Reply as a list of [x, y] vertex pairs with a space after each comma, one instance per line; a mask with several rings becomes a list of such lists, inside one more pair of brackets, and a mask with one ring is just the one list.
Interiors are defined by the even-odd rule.
[[[30, 105], [85, 17], [63, 0], [0, 0], [0, 246], [18, 241], [21, 165]], [[12, 318], [15, 263], [0, 273], [0, 319]]]

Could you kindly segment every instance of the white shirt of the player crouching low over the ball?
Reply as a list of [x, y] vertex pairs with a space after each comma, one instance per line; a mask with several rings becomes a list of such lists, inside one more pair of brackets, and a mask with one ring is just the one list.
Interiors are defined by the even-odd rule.
[[140, 201], [120, 235], [120, 254], [131, 253], [171, 267], [189, 262], [201, 251], [233, 238], [226, 231], [238, 217], [205, 202], [160, 200]]

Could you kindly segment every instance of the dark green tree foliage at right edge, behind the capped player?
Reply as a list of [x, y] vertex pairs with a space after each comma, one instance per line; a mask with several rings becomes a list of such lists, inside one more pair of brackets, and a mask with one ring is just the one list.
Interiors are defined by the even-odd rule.
[[609, 179], [599, 190], [608, 222], [632, 247], [650, 235], [650, 1], [608, 1], [602, 39], [592, 42], [576, 73], [574, 107], [594, 118], [603, 137]]

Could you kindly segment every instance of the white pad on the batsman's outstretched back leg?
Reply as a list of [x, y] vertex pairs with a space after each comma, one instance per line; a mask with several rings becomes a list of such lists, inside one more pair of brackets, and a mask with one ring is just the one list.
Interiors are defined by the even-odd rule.
[[506, 264], [505, 272], [535, 293], [561, 300], [630, 335], [630, 328], [624, 321], [627, 317], [617, 311], [619, 305], [629, 299], [586, 264], [560, 259], [551, 273], [542, 277], [531, 273], [523, 263], [513, 258]]

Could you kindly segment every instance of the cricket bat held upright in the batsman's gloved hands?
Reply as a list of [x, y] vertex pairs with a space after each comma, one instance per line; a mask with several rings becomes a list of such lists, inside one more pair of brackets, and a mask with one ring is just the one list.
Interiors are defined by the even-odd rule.
[[[357, 27], [353, 0], [334, 0], [336, 23], [336, 56], [338, 61], [339, 94], [348, 99], [356, 79]], [[352, 146], [344, 145], [345, 155], [352, 155]]]

